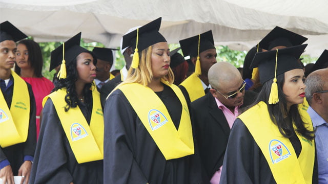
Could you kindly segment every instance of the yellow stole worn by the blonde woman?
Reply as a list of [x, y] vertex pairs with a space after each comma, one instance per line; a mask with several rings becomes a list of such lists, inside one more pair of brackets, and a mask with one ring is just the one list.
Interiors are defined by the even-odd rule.
[[129, 83], [119, 86], [118, 89], [129, 100], [166, 160], [194, 154], [193, 133], [186, 99], [176, 85], [162, 82], [173, 89], [182, 104], [178, 130], [166, 106], [151, 88], [138, 83]]

